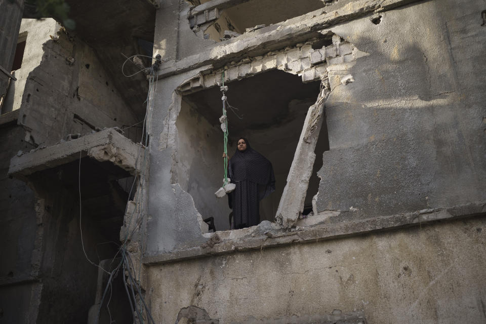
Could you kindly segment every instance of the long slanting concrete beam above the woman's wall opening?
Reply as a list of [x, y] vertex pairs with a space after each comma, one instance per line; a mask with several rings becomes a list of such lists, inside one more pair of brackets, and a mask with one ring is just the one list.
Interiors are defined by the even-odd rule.
[[[223, 2], [224, 0], [218, 1]], [[185, 57], [181, 60], [168, 61], [160, 66], [158, 76], [161, 78], [179, 74], [203, 65], [215, 64], [217, 61], [221, 61], [224, 64], [225, 61], [238, 60], [243, 55], [262, 55], [269, 51], [275, 51], [290, 45], [305, 42], [311, 37], [320, 36], [319, 31], [333, 25], [361, 18], [371, 13], [391, 10], [417, 1], [356, 0], [338, 10], [328, 13], [323, 10], [316, 10], [306, 15], [289, 19], [281, 24], [270, 25], [253, 32], [244, 33], [238, 37], [233, 37], [228, 41], [214, 44], [213, 46], [209, 46], [204, 52]], [[208, 2], [205, 5], [210, 3], [212, 2]]]

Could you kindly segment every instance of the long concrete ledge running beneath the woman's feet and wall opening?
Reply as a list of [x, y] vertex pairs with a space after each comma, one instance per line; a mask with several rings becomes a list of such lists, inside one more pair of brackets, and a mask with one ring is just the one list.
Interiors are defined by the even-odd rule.
[[[162, 264], [249, 250], [282, 247], [290, 244], [315, 244], [321, 240], [376, 233], [403, 227], [424, 226], [427, 223], [452, 221], [465, 217], [485, 216], [486, 203], [478, 203], [390, 216], [374, 217], [370, 215], [366, 219], [342, 221], [334, 224], [323, 222], [315, 226], [296, 228], [292, 231], [270, 228], [262, 231], [260, 228], [263, 227], [264, 222], [262, 222], [259, 226], [208, 233], [206, 237], [209, 239], [206, 244], [167, 253], [147, 255], [143, 257], [142, 262], [145, 264]], [[346, 218], [346, 216], [342, 217], [342, 219]], [[237, 235], [238, 233], [239, 235]]]

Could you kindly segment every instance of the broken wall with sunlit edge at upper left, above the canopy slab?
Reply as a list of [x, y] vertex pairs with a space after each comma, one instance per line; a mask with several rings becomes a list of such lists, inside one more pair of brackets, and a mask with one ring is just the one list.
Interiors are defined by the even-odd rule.
[[53, 19], [23, 19], [27, 32], [22, 67], [9, 93], [18, 123], [35, 145], [51, 145], [68, 134], [133, 125], [137, 118], [114, 88], [96, 53]]

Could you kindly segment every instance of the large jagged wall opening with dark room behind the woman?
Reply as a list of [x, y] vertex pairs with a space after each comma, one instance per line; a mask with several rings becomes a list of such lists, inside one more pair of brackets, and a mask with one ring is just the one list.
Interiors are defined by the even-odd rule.
[[[237, 139], [246, 137], [254, 149], [271, 161], [276, 190], [260, 202], [260, 221], [273, 221], [307, 110], [316, 101], [320, 82], [303, 84], [298, 75], [271, 70], [226, 85], [229, 87], [228, 102], [237, 108], [235, 113], [231, 109], [227, 112], [228, 153], [232, 156]], [[230, 229], [228, 215], [231, 212], [228, 199], [218, 199], [214, 195], [224, 178], [223, 133], [219, 123], [221, 96], [220, 89], [215, 87], [182, 98], [176, 122], [178, 157], [175, 164], [177, 179], [174, 180], [192, 195], [203, 218], [214, 217], [216, 230], [227, 230]], [[316, 167], [319, 154], [321, 165], [322, 152], [328, 149], [324, 126], [316, 148]], [[317, 192], [316, 170], [309, 183], [306, 209], [311, 208], [312, 196]]]

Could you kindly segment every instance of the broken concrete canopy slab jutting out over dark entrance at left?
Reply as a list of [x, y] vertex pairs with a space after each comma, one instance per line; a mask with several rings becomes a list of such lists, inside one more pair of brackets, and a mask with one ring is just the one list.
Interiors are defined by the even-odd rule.
[[9, 175], [28, 176], [51, 169], [80, 157], [89, 156], [135, 174], [141, 169], [144, 148], [110, 128], [98, 133], [59, 143], [33, 152], [14, 156], [10, 160]]

